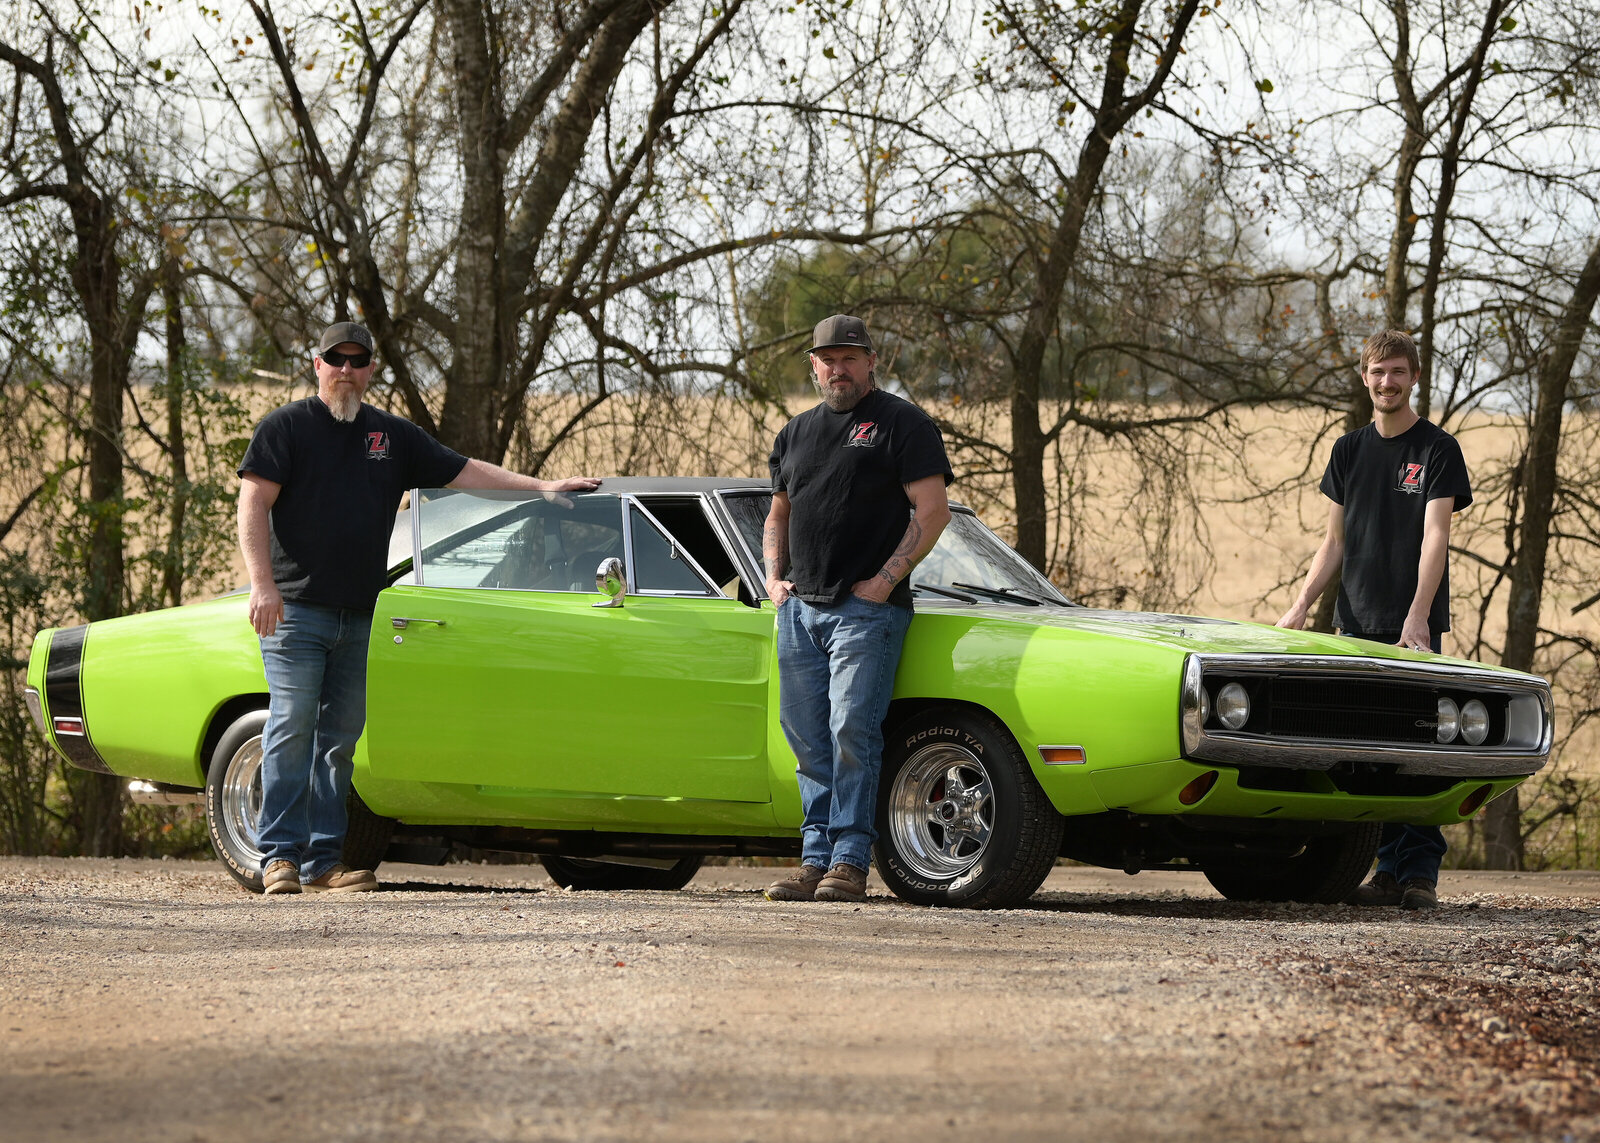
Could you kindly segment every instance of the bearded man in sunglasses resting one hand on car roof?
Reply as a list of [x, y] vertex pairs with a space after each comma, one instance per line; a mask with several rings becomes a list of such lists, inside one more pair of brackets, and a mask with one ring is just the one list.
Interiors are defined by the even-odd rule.
[[366, 722], [373, 607], [405, 491], [600, 483], [536, 480], [467, 459], [363, 403], [376, 371], [373, 335], [354, 322], [323, 330], [312, 365], [317, 395], [267, 413], [238, 464], [238, 546], [269, 693], [258, 845], [270, 895], [378, 887], [371, 869], [341, 861], [344, 802]]

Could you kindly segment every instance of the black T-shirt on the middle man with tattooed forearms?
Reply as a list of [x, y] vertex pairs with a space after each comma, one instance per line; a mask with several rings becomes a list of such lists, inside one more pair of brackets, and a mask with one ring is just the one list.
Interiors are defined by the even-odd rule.
[[[773, 491], [789, 495], [786, 578], [808, 604], [834, 604], [883, 568], [910, 519], [904, 485], [955, 479], [938, 426], [882, 389], [846, 413], [827, 405], [802, 413], [778, 434], [768, 464]], [[890, 602], [910, 607], [909, 580]]]

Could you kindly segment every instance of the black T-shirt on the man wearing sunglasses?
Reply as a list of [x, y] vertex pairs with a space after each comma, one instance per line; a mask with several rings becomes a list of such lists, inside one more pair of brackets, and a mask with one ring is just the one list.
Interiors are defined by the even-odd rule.
[[282, 485], [272, 504], [272, 580], [283, 599], [370, 612], [387, 576], [406, 488], [442, 488], [467, 458], [392, 413], [339, 421], [320, 397], [277, 408], [238, 463]]

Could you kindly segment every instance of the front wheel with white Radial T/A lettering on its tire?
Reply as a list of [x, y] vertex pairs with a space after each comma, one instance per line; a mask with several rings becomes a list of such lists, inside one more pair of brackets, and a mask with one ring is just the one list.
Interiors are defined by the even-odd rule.
[[930, 708], [885, 738], [878, 874], [914, 904], [1003, 909], [1043, 884], [1064, 821], [1005, 725]]

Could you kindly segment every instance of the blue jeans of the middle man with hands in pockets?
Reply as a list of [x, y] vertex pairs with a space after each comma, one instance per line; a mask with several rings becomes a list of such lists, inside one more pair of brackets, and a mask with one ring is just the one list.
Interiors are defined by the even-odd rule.
[[872, 864], [883, 716], [910, 610], [845, 596], [778, 608], [778, 719], [798, 759], [800, 858]]

